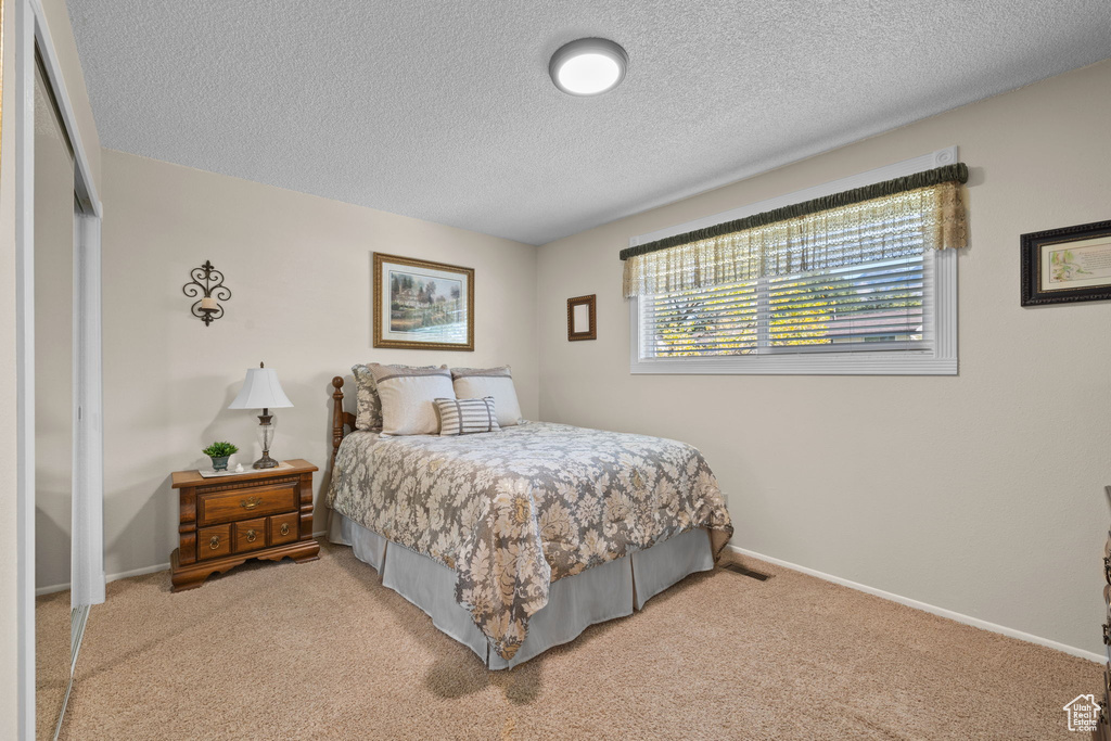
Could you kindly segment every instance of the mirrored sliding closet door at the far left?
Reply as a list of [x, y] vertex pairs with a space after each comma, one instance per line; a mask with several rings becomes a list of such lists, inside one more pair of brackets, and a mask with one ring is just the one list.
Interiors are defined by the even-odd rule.
[[34, 80], [36, 735], [69, 688], [73, 492], [73, 157], [50, 87]]

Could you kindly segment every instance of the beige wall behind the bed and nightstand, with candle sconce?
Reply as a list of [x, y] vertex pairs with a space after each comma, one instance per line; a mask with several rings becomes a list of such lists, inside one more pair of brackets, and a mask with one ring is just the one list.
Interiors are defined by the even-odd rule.
[[[207, 443], [238, 444], [233, 464], [258, 458], [258, 412], [227, 407], [259, 361], [278, 371], [294, 404], [276, 412], [271, 452], [321, 469], [331, 453], [330, 381], [357, 362], [510, 363], [522, 410], [536, 417], [536, 248], [112, 150], [103, 168], [109, 574], [169, 561], [178, 517], [170, 473], [203, 462]], [[374, 251], [473, 268], [476, 351], [373, 349]], [[211, 327], [190, 316], [181, 292], [206, 260], [232, 292]]]

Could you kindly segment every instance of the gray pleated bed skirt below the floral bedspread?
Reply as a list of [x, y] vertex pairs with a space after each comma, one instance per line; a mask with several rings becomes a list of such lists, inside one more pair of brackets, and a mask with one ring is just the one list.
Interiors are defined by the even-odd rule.
[[529, 633], [509, 661], [489, 649], [471, 615], [454, 599], [456, 572], [372, 530], [331, 513], [328, 539], [350, 545], [372, 565], [382, 584], [406, 598], [432, 624], [470, 648], [489, 669], [512, 669], [548, 649], [574, 640], [594, 623], [623, 618], [683, 577], [713, 568], [710, 535], [692, 530], [617, 561], [588, 569], [551, 585], [548, 604], [529, 619]]

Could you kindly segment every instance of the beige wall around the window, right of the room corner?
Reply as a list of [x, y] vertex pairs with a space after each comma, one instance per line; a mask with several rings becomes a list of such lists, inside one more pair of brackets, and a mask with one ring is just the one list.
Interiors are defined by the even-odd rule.
[[[1109, 121], [1103, 62], [542, 247], [541, 418], [699, 447], [738, 547], [1101, 651], [1111, 303], [1022, 309], [1019, 234], [1111, 219]], [[630, 375], [630, 237], [950, 144], [959, 377]], [[599, 339], [568, 342], [584, 293]]]

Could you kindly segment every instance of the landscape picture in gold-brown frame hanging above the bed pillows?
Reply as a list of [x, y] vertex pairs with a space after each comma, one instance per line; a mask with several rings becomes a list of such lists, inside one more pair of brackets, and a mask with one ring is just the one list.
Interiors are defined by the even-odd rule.
[[474, 270], [374, 252], [374, 347], [474, 350]]

